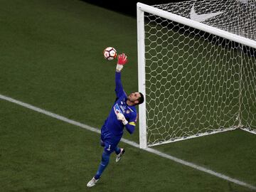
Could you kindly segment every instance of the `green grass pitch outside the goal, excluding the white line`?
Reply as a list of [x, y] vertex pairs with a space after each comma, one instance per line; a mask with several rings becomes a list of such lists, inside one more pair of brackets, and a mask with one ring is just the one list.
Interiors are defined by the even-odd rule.
[[[114, 102], [113, 46], [137, 91], [136, 18], [78, 0], [0, 1], [0, 94], [100, 128]], [[137, 127], [138, 129], [138, 127]], [[124, 138], [139, 142], [139, 131]], [[94, 188], [100, 135], [0, 100], [0, 191], [224, 191], [250, 188], [121, 143]], [[256, 186], [255, 135], [236, 130], [154, 149]]]

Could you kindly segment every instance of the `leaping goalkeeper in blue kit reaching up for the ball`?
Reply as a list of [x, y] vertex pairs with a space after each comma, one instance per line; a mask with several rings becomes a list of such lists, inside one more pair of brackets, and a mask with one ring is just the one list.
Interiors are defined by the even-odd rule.
[[133, 92], [126, 95], [121, 82], [121, 70], [127, 63], [127, 55], [122, 53], [117, 56], [117, 68], [115, 73], [115, 92], [117, 99], [112, 106], [109, 116], [101, 129], [101, 145], [104, 147], [102, 152], [102, 160], [95, 176], [87, 183], [87, 187], [95, 186], [100, 179], [103, 171], [106, 169], [110, 161], [110, 154], [114, 151], [117, 154], [116, 162], [121, 159], [124, 149], [120, 149], [119, 144], [124, 127], [129, 134], [132, 134], [137, 121], [137, 110], [135, 105], [144, 102], [144, 96], [141, 92]]

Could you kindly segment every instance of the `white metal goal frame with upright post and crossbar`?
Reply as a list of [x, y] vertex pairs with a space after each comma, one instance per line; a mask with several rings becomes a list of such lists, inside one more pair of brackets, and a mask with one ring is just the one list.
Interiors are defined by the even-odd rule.
[[[145, 31], [144, 31], [144, 12], [149, 14], [154, 14], [156, 16], [160, 16], [162, 18], [169, 19], [171, 21], [175, 21], [177, 23], [182, 23], [185, 26], [190, 26], [196, 28], [201, 31], [205, 31], [207, 33], [213, 34], [215, 36], [220, 36], [222, 38], [226, 38], [230, 41], [234, 41], [236, 43], [240, 43], [245, 46], [249, 46], [251, 48], [256, 49], [256, 41], [253, 41], [249, 38], [245, 38], [242, 36], [235, 35], [233, 33], [229, 33], [227, 31], [223, 31], [219, 28], [215, 28], [213, 26], [208, 26], [206, 24], [200, 23], [198, 21], [193, 21], [188, 18], [184, 18], [182, 16], [178, 16], [176, 14], [172, 14], [168, 11], [163, 11], [161, 9], [157, 9], [153, 6], [149, 6], [142, 3], [137, 3], [137, 47], [138, 47], [138, 80], [139, 80], [139, 92], [145, 97], [145, 102], [139, 105], [139, 147], [141, 149], [146, 149], [147, 146], [147, 132], [146, 132], [146, 73], [145, 73]], [[230, 127], [230, 129], [242, 128], [242, 124], [238, 124], [237, 127]], [[247, 131], [247, 129], [244, 129]], [[225, 130], [220, 130], [218, 132], [223, 132]], [[213, 132], [216, 133], [216, 132]], [[254, 133], [254, 132], [252, 132]], [[256, 133], [254, 133], [256, 134]], [[206, 134], [202, 134], [203, 136]], [[198, 137], [198, 136], [197, 136]], [[193, 137], [190, 137], [193, 138]], [[183, 139], [177, 139], [183, 140]], [[166, 143], [166, 142], [164, 142]]]

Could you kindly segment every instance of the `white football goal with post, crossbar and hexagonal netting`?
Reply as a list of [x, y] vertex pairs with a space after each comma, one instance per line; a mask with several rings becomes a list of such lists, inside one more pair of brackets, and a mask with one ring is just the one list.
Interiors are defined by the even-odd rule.
[[140, 147], [256, 133], [256, 3], [137, 4]]

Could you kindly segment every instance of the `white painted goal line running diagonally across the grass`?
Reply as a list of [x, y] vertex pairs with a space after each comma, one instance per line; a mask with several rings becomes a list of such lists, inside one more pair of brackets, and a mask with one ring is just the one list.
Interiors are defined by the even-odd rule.
[[[28, 108], [28, 109], [30, 109], [30, 110], [33, 110], [33, 111], [36, 111], [36, 112], [40, 112], [40, 113], [46, 114], [46, 115], [48, 115], [48, 116], [50, 116], [50, 117], [53, 117], [53, 118], [55, 118], [55, 119], [59, 119], [59, 120], [61, 120], [61, 121], [63, 121], [63, 122], [68, 122], [69, 124], [74, 124], [74, 125], [76, 125], [76, 126], [78, 126], [78, 127], [81, 127], [81, 128], [83, 128], [83, 129], [87, 129], [87, 130], [89, 130], [89, 131], [91, 131], [91, 132], [96, 132], [97, 134], [100, 134], [100, 130], [99, 130], [99, 129], [96, 129], [96, 128], [94, 128], [94, 127], [90, 127], [90, 126], [87, 125], [87, 124], [82, 124], [82, 123], [80, 123], [80, 122], [75, 122], [75, 121], [72, 120], [72, 119], [68, 119], [68, 118], [66, 118], [66, 117], [60, 116], [60, 115], [55, 114], [55, 113], [53, 113], [53, 112], [48, 112], [48, 111], [43, 110], [43, 109], [38, 108], [38, 107], [34, 107], [33, 105], [29, 105], [29, 104], [27, 104], [27, 103], [25, 103], [25, 102], [21, 102], [21, 101], [18, 101], [18, 100], [14, 100], [14, 99], [11, 98], [11, 97], [6, 97], [6, 96], [4, 96], [4, 95], [0, 95], [0, 99], [1, 99], [1, 100], [6, 100], [6, 101], [9, 101], [9, 102], [16, 103], [17, 105], [21, 105], [21, 106], [26, 107], [26, 108]], [[136, 142], [132, 142], [132, 141], [130, 141], [130, 140], [128, 140], [128, 139], [123, 139], [123, 138], [121, 139], [121, 141], [124, 142], [124, 143], [126, 143], [126, 144], [129, 144], [129, 145], [131, 145], [131, 146], [134, 146], [134, 147], [139, 148], [139, 144], [137, 144]], [[196, 170], [199, 170], [199, 171], [203, 171], [203, 172], [205, 172], [205, 173], [207, 173], [207, 174], [210, 174], [210, 175], [213, 175], [213, 176], [217, 176], [217, 177], [219, 177], [219, 178], [223, 178], [223, 179], [226, 180], [226, 181], [230, 181], [230, 182], [235, 183], [235, 184], [238, 184], [238, 185], [240, 185], [240, 186], [245, 186], [245, 187], [247, 187], [247, 188], [256, 190], [256, 187], [255, 187], [255, 186], [252, 186], [252, 185], [250, 185], [250, 184], [248, 184], [248, 183], [245, 183], [245, 182], [243, 182], [243, 181], [239, 181], [238, 179], [235, 179], [235, 178], [230, 178], [229, 176], [225, 176], [225, 175], [223, 175], [223, 174], [220, 174], [220, 173], [218, 173], [218, 172], [212, 171], [212, 170], [210, 170], [210, 169], [206, 169], [206, 168], [204, 168], [203, 166], [198, 166], [198, 165], [193, 164], [193, 163], [191, 163], [191, 162], [184, 161], [184, 160], [182, 160], [182, 159], [178, 159], [178, 158], [176, 158], [175, 156], [171, 156], [171, 155], [169, 155], [169, 154], [164, 154], [163, 152], [158, 151], [158, 150], [156, 150], [156, 149], [147, 148], [147, 149], [143, 149], [143, 150], [148, 151], [148, 152], [150, 152], [150, 153], [152, 153], [152, 154], [156, 154], [156, 155], [162, 156], [162, 157], [164, 157], [164, 158], [166, 158], [166, 159], [171, 159], [172, 161], [175, 161], [175, 162], [177, 162], [178, 164], [183, 164], [183, 165], [189, 166], [189, 167], [191, 167], [191, 168], [193, 168], [193, 169], [196, 169]]]

